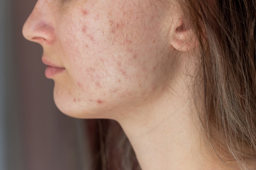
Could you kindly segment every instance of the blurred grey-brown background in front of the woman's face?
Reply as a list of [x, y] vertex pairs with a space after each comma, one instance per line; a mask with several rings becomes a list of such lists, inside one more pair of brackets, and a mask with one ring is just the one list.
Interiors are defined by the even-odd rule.
[[88, 123], [58, 111], [42, 48], [22, 36], [35, 4], [0, 0], [0, 170], [87, 170]]

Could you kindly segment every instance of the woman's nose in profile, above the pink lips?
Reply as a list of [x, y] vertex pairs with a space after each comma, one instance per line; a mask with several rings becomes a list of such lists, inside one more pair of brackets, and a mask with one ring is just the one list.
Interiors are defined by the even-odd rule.
[[23, 36], [27, 40], [41, 45], [51, 44], [56, 39], [54, 15], [53, 10], [51, 10], [52, 4], [45, 1], [37, 1], [22, 29]]

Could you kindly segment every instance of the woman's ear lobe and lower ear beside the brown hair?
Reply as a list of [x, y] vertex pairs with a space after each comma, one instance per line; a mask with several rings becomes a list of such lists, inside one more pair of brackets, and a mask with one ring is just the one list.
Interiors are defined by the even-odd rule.
[[198, 45], [195, 33], [189, 22], [180, 18], [175, 24], [171, 46], [178, 51], [191, 51]]

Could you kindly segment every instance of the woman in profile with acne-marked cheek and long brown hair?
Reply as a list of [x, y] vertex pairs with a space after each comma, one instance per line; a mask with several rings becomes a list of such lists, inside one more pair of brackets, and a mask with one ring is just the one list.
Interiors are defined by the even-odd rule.
[[255, 22], [256, 0], [38, 0], [23, 35], [56, 106], [117, 121], [142, 170], [254, 170]]

